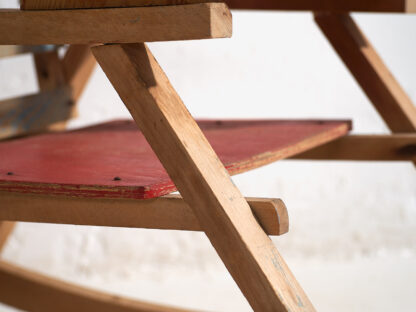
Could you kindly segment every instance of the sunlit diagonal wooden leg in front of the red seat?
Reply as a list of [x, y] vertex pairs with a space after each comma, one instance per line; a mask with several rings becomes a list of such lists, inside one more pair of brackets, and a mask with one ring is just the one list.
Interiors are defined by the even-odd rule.
[[314, 311], [146, 46], [93, 53], [252, 308]]

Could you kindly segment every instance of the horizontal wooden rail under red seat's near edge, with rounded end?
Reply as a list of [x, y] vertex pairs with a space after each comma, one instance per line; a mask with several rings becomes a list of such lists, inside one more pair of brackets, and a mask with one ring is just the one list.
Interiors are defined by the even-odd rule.
[[[247, 198], [247, 202], [268, 235], [288, 232], [289, 218], [283, 201]], [[192, 209], [178, 195], [126, 200], [0, 192], [0, 220], [202, 231]]]

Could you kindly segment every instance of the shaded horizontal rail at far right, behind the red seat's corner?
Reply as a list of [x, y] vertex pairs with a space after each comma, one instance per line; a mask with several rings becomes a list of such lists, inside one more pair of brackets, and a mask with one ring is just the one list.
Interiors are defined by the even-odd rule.
[[416, 134], [351, 135], [293, 158], [416, 162]]

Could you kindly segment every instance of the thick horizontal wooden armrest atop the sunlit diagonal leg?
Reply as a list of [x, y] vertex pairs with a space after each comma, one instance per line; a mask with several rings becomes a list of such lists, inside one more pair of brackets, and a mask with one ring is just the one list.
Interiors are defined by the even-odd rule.
[[0, 10], [0, 44], [92, 44], [230, 37], [223, 3], [92, 10]]

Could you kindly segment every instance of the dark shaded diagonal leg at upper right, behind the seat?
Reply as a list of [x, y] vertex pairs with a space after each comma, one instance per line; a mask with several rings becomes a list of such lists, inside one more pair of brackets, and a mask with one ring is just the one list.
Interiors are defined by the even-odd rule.
[[348, 14], [315, 21], [393, 132], [416, 131], [416, 107]]

